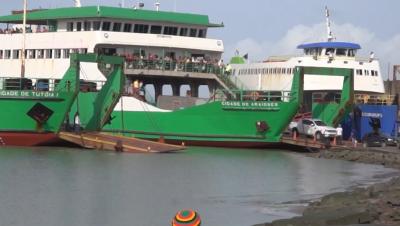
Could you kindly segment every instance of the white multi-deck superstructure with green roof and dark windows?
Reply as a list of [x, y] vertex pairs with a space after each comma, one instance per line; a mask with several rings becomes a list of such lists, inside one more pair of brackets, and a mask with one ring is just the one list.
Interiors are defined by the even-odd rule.
[[[2, 77], [21, 76], [22, 20], [21, 12], [0, 17]], [[52, 89], [69, 66], [69, 55], [87, 52], [124, 56], [128, 80], [166, 73], [210, 76], [224, 46], [221, 40], [207, 38], [207, 31], [222, 26], [210, 23], [206, 15], [145, 10], [142, 4], [32, 10], [27, 14], [25, 78]], [[81, 71], [85, 80], [105, 81], [107, 66], [83, 64]]]

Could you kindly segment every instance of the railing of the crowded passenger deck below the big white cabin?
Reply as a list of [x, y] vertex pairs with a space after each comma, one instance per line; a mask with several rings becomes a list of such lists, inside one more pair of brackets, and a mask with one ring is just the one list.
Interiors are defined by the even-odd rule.
[[204, 62], [182, 62], [177, 60], [148, 60], [139, 59], [131, 60], [126, 58], [125, 69], [146, 69], [161, 71], [180, 71], [180, 72], [197, 72], [197, 73], [224, 73], [224, 67], [220, 67], [214, 63]]

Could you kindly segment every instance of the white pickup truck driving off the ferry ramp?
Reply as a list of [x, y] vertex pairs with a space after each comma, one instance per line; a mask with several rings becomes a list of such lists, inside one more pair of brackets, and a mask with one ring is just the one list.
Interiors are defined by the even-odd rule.
[[335, 137], [337, 135], [335, 128], [326, 125], [320, 119], [300, 119], [298, 122], [291, 122], [289, 129], [297, 134], [313, 136], [317, 140], [322, 137]]

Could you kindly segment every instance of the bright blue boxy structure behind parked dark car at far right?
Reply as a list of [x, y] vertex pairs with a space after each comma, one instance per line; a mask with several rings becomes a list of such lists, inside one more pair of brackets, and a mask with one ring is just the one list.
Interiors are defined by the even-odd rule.
[[343, 121], [343, 138], [351, 138], [351, 133], [357, 140], [372, 132], [371, 118], [378, 118], [381, 122], [380, 132], [387, 136], [396, 136], [397, 105], [356, 105], [350, 115]]

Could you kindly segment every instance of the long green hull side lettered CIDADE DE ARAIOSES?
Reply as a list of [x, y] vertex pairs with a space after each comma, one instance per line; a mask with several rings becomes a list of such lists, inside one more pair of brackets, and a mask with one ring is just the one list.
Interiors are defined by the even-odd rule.
[[[114, 111], [112, 123], [103, 131], [175, 144], [260, 147], [278, 143], [298, 110], [293, 103], [276, 103], [277, 107], [268, 110], [226, 109], [224, 104], [213, 102], [172, 112]], [[260, 123], [266, 128], [260, 128]]]

